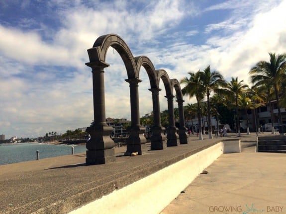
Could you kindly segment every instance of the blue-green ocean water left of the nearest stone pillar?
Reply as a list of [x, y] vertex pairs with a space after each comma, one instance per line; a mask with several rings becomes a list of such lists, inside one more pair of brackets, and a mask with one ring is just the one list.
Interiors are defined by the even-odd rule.
[[50, 145], [46, 143], [13, 143], [0, 144], [0, 165], [18, 163], [37, 159], [37, 150], [40, 152], [40, 159], [56, 157], [66, 154], [85, 152], [85, 145]]

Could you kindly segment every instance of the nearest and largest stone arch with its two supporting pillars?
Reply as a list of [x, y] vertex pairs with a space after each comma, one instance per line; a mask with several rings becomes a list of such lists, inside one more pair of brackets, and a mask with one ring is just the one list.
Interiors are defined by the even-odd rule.
[[141, 80], [137, 77], [135, 59], [127, 44], [116, 34], [107, 34], [96, 39], [93, 48], [88, 50], [90, 62], [87, 66], [93, 72], [94, 92], [94, 125], [87, 128], [91, 135], [87, 142], [87, 164], [101, 164], [115, 161], [114, 142], [109, 135], [113, 131], [105, 122], [105, 97], [104, 97], [104, 68], [109, 65], [105, 62], [109, 47], [113, 47], [120, 55], [125, 65], [130, 90], [131, 127], [128, 130], [129, 138], [125, 154], [147, 152], [144, 137], [144, 129], [140, 128], [138, 83]]

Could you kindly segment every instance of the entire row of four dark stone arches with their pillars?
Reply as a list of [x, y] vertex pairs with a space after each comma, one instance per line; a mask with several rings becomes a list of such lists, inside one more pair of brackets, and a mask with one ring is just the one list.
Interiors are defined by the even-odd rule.
[[[145, 56], [134, 58], [127, 44], [118, 35], [103, 35], [98, 37], [93, 48], [88, 50], [90, 62], [86, 63], [87, 66], [92, 68], [94, 99], [94, 124], [87, 128], [87, 132], [91, 135], [91, 139], [87, 142], [86, 164], [88, 165], [115, 161], [114, 142], [109, 137], [112, 132], [112, 127], [107, 126], [105, 122], [104, 68], [109, 66], [105, 62], [109, 47], [113, 47], [123, 60], [128, 77], [125, 81], [129, 83], [130, 88], [131, 126], [127, 129], [129, 138], [127, 139], [125, 155], [130, 155], [132, 152], [138, 152], [138, 154], [147, 152], [145, 144], [147, 141], [143, 135], [144, 128], [140, 125], [139, 117], [138, 87], [141, 82], [139, 79], [141, 66], [143, 66], [148, 73], [151, 87], [149, 90], [152, 92], [154, 125], [152, 127], [151, 149], [163, 149], [166, 144], [166, 137], [163, 135], [164, 129], [161, 126], [160, 119], [160, 79], [164, 82], [166, 97], [168, 99], [168, 111], [170, 114], [169, 127], [167, 129], [167, 145], [177, 145], [179, 139], [174, 122], [173, 87], [175, 87], [177, 97], [179, 94], [178, 104], [179, 106], [182, 104], [182, 108], [184, 100], [182, 99], [182, 91], [178, 80], [170, 80], [167, 72], [164, 70], [155, 71], [149, 58]], [[180, 109], [179, 112], [180, 121], [182, 118], [184, 120], [184, 112]], [[185, 125], [183, 126], [182, 124], [182, 127], [185, 127]], [[185, 142], [185, 140], [181, 141], [180, 137], [180, 143]]]

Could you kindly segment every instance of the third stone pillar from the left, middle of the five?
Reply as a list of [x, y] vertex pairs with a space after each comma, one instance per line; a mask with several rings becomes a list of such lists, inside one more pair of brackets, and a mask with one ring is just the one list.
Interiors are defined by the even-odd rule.
[[161, 126], [161, 112], [159, 102], [160, 88], [150, 88], [152, 92], [154, 124], [151, 128], [151, 150], [159, 150], [167, 147], [164, 128]]

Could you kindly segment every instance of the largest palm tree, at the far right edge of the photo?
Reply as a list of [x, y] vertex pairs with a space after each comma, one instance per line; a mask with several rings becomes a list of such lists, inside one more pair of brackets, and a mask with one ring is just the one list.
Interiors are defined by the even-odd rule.
[[[270, 84], [274, 86], [275, 97], [277, 101], [278, 116], [282, 126], [282, 114], [279, 105], [279, 90], [282, 81], [286, 78], [286, 54], [269, 53], [270, 61], [258, 62], [250, 71], [251, 82], [255, 86]], [[283, 130], [283, 129], [282, 129]], [[284, 133], [282, 133], [283, 135]]]

